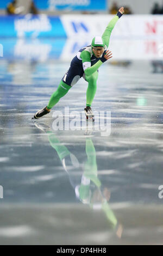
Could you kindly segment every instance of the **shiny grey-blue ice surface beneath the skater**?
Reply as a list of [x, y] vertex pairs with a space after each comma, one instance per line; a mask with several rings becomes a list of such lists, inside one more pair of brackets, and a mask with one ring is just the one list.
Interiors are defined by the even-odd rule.
[[108, 136], [86, 121], [54, 129], [55, 111], [69, 124], [72, 111], [82, 114], [83, 78], [31, 119], [69, 64], [0, 61], [0, 243], [162, 244], [163, 62], [101, 66], [92, 110], [110, 113]]

